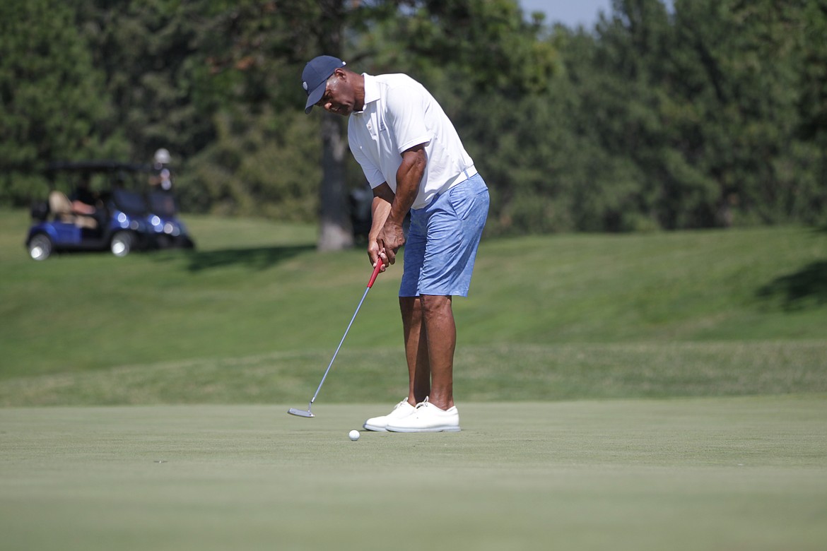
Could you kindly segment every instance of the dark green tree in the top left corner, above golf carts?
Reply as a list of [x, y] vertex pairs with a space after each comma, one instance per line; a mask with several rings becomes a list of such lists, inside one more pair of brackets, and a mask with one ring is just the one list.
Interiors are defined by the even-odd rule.
[[0, 4], [0, 202], [43, 197], [50, 161], [125, 150], [74, 9], [56, 0]]

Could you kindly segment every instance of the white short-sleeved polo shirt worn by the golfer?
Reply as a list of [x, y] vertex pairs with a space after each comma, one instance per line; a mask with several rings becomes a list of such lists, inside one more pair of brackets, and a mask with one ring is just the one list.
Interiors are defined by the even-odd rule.
[[426, 144], [428, 164], [412, 208], [427, 207], [437, 193], [476, 174], [474, 161], [437, 100], [406, 74], [365, 77], [364, 111], [347, 123], [351, 152], [371, 188], [387, 182], [396, 192], [402, 152]]

